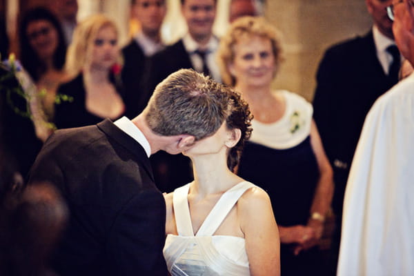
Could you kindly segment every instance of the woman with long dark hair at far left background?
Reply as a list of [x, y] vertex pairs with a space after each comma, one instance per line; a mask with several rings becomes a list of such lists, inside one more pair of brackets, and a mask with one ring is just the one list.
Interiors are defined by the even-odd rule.
[[[57, 87], [67, 77], [63, 70], [66, 44], [60, 23], [49, 10], [34, 8], [21, 20], [19, 39], [21, 63], [37, 86], [37, 95], [32, 96], [38, 102], [32, 112], [40, 114], [44, 121], [52, 121]], [[41, 94], [41, 90], [46, 94]], [[44, 141], [51, 129], [43, 121], [34, 123]]]

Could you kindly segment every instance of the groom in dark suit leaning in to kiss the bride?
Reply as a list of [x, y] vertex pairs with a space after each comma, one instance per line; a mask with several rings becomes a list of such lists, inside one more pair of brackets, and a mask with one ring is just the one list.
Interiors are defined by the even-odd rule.
[[166, 275], [166, 206], [148, 157], [178, 154], [214, 133], [226, 112], [222, 88], [179, 70], [134, 119], [57, 130], [46, 141], [29, 182], [50, 181], [70, 210], [52, 255], [59, 275]]

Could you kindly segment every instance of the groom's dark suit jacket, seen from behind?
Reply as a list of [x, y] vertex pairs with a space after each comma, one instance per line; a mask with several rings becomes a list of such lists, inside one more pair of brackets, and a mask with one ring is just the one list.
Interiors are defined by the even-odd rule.
[[50, 181], [70, 220], [53, 255], [59, 275], [166, 275], [166, 206], [141, 147], [108, 119], [57, 130], [30, 184]]

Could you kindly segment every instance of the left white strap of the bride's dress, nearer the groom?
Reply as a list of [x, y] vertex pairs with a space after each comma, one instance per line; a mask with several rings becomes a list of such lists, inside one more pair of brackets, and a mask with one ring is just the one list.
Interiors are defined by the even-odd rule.
[[172, 194], [172, 206], [174, 206], [175, 224], [177, 225], [178, 235], [194, 237], [190, 208], [188, 208], [189, 189], [190, 184], [175, 189], [174, 194]]

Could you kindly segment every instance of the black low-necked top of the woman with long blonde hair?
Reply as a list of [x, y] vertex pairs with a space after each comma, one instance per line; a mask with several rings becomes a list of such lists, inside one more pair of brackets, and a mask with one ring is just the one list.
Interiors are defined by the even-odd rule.
[[[98, 124], [105, 119], [86, 109], [86, 90], [83, 84], [82, 74], [79, 74], [75, 79], [72, 79], [67, 83], [62, 83], [59, 88], [57, 88], [57, 93], [72, 97], [72, 101], [61, 101], [61, 103], [55, 105], [55, 125], [58, 129], [90, 126]], [[124, 115], [125, 112], [119, 115], [119, 117]]]

